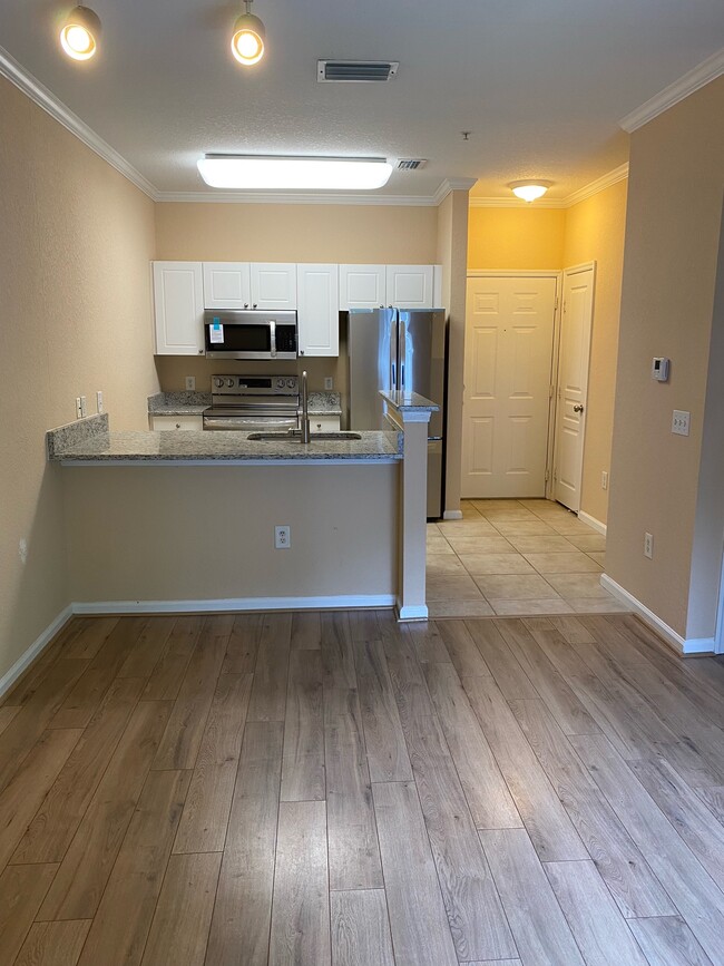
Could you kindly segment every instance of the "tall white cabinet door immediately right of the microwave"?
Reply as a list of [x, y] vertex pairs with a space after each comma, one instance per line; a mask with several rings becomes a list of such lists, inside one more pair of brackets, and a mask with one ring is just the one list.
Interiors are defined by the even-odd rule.
[[300, 355], [340, 354], [336, 265], [297, 265]]

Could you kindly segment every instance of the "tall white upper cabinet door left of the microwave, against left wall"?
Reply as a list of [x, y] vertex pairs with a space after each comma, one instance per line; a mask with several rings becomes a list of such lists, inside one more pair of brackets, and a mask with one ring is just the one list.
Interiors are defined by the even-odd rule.
[[200, 262], [154, 262], [156, 355], [204, 354]]

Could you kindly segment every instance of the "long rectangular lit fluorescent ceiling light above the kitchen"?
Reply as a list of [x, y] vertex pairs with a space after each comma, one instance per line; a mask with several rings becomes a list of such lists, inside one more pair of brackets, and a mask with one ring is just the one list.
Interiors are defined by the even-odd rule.
[[207, 185], [227, 191], [372, 191], [388, 183], [384, 158], [214, 155], [198, 162]]

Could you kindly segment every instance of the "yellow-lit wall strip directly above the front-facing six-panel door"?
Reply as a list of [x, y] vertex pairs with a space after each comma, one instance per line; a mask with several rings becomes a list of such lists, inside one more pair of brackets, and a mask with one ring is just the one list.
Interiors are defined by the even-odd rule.
[[468, 267], [562, 269], [565, 208], [470, 208]]

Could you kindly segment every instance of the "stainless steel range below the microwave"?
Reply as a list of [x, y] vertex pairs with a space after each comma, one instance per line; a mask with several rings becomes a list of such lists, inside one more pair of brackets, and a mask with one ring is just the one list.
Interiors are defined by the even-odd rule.
[[204, 429], [246, 432], [300, 428], [296, 375], [213, 375]]

